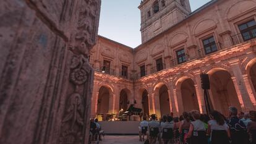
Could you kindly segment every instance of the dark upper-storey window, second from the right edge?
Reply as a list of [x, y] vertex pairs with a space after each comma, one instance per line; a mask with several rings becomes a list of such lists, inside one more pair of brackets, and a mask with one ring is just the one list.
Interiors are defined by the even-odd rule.
[[218, 48], [216, 46], [214, 37], [211, 36], [210, 38], [207, 38], [203, 40], [203, 48], [205, 49], [205, 54], [210, 54], [215, 51], [218, 51]]

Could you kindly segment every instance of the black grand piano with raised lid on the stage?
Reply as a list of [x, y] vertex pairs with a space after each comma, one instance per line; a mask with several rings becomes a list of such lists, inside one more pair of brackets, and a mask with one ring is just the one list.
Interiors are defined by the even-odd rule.
[[[119, 114], [119, 120], [121, 121], [136, 121], [141, 120], [142, 117], [142, 109], [135, 108], [134, 104], [130, 104], [129, 108], [124, 111], [124, 113]], [[131, 119], [133, 117], [133, 119]], [[139, 119], [138, 119], [139, 118]]]

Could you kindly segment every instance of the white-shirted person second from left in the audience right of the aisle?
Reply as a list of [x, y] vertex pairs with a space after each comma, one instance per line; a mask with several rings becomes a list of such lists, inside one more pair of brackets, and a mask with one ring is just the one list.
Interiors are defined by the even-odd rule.
[[150, 143], [156, 143], [156, 138], [160, 130], [160, 123], [156, 121], [156, 116], [152, 114], [152, 121], [148, 122], [148, 131], [150, 135]]

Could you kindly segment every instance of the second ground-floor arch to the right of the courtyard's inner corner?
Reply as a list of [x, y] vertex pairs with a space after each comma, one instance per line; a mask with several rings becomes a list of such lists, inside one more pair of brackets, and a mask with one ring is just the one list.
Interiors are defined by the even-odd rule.
[[169, 104], [168, 87], [165, 83], [157, 83], [154, 87], [156, 115], [158, 117], [171, 114], [171, 108]]

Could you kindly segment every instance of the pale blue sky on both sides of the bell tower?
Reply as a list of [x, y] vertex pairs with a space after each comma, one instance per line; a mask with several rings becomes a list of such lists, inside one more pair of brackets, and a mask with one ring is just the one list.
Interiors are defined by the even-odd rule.
[[[190, 0], [192, 11], [210, 0]], [[135, 48], [141, 44], [140, 0], [101, 0], [99, 35]]]

